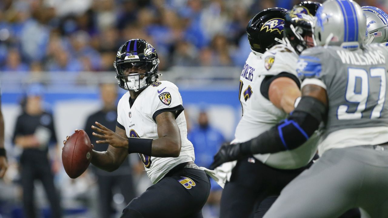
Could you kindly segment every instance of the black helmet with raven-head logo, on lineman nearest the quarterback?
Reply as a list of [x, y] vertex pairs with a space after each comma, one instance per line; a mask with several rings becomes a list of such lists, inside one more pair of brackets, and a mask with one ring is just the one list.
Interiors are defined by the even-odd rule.
[[267, 48], [279, 44], [283, 35], [284, 17], [289, 10], [269, 8], [256, 14], [246, 27], [249, 45], [253, 52], [263, 54]]

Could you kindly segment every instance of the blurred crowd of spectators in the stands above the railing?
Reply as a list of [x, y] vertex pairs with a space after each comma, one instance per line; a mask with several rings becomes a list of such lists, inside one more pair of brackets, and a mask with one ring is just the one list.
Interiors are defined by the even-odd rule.
[[241, 66], [246, 25], [298, 0], [2, 0], [0, 71], [110, 71], [121, 44], [143, 38], [170, 66]]

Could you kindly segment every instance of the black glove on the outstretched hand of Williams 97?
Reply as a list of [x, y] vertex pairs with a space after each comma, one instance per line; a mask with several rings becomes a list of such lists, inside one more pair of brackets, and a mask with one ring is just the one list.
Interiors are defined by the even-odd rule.
[[214, 161], [210, 165], [210, 170], [214, 170], [218, 166], [220, 166], [223, 163], [235, 161], [237, 159], [240, 159], [242, 157], [246, 156], [246, 154], [243, 154], [241, 152], [241, 144], [223, 144], [220, 147], [220, 150], [218, 150], [217, 154], [214, 156]]

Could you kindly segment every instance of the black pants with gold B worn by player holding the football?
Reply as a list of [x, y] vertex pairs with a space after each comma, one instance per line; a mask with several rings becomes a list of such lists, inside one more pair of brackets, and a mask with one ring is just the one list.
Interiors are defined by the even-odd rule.
[[203, 170], [183, 168], [134, 198], [121, 218], [203, 218], [209, 193], [210, 180]]

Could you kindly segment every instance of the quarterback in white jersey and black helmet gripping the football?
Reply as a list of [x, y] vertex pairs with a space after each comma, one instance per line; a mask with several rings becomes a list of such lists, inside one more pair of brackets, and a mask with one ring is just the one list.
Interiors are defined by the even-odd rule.
[[[120, 47], [114, 66], [118, 83], [128, 90], [118, 103], [116, 132], [96, 122], [95, 136], [108, 143], [93, 151], [91, 163], [113, 171], [130, 153], [139, 153], [152, 185], [134, 198], [121, 218], [201, 218], [210, 180], [194, 164], [178, 87], [159, 81], [159, 59], [152, 45], [132, 39]], [[96, 133], [97, 132], [97, 133]]]

